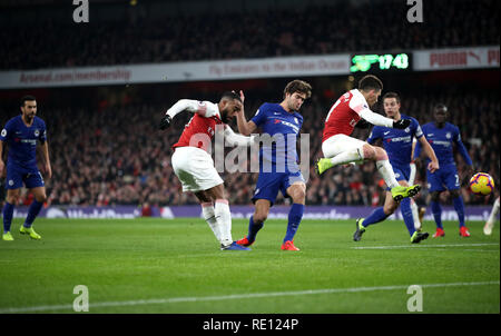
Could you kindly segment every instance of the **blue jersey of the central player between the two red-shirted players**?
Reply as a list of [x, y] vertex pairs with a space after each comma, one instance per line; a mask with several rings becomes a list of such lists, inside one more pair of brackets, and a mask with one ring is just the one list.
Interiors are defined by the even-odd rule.
[[250, 119], [261, 127], [264, 135], [273, 137], [274, 141], [264, 144], [259, 150], [259, 165], [271, 162], [279, 170], [282, 164], [285, 170], [291, 167], [298, 170], [297, 166], [297, 137], [303, 125], [303, 116], [297, 111], [287, 112], [279, 103], [263, 103], [256, 115]]

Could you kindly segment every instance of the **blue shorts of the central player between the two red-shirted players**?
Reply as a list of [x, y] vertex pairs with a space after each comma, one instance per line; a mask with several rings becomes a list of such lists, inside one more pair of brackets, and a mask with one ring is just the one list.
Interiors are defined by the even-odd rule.
[[254, 191], [253, 202], [258, 199], [267, 199], [273, 204], [278, 196], [278, 190], [284, 197], [287, 195], [287, 188], [295, 182], [303, 182], [305, 180], [301, 171], [296, 172], [259, 172], [257, 177], [256, 190]]

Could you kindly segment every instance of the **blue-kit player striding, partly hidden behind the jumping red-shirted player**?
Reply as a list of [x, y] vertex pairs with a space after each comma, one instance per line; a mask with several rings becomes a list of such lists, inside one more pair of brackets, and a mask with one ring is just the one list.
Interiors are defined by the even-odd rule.
[[[411, 178], [412, 144], [414, 137], [418, 139], [418, 144], [423, 147], [426, 156], [430, 158], [428, 169], [430, 171], [435, 171], [439, 169], [439, 160], [436, 159], [432, 147], [428, 144], [426, 138], [423, 137], [423, 132], [421, 131], [418, 120], [400, 112], [401, 101], [399, 95], [395, 92], [387, 92], [384, 95], [383, 107], [386, 117], [392, 118], [395, 121], [401, 119], [411, 120], [411, 125], [405, 129], [374, 126], [367, 139], [367, 142], [371, 145], [376, 142], [379, 139], [382, 140], [383, 147], [387, 152], [390, 164], [392, 165], [399, 184], [401, 186], [409, 186], [409, 180]], [[383, 207], [375, 209], [367, 218], [358, 218], [356, 220], [356, 230], [353, 235], [353, 240], [360, 241], [362, 234], [365, 233], [370, 225], [383, 221], [392, 215], [397, 207], [399, 202], [393, 199], [390, 191], [386, 191], [386, 199]], [[400, 202], [400, 209], [411, 236], [411, 243], [416, 244], [426, 239], [429, 236], [428, 233], [420, 233], [415, 229], [413, 213], [411, 209], [411, 199], [404, 198]]]

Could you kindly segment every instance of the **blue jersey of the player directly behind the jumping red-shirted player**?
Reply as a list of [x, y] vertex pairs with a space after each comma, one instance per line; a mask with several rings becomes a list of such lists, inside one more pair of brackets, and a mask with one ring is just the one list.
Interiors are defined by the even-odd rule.
[[412, 140], [423, 136], [420, 123], [415, 118], [401, 115], [402, 119], [410, 119], [411, 125], [405, 129], [374, 126], [367, 142], [374, 144], [377, 139], [383, 140], [383, 147], [387, 152], [392, 166], [405, 166], [412, 161]]

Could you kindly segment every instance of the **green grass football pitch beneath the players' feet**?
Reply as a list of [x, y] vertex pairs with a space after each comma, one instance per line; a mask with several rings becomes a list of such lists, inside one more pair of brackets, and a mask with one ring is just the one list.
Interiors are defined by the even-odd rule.
[[[20, 223], [14, 241], [0, 240], [0, 313], [75, 313], [77, 285], [98, 314], [400, 314], [410, 285], [422, 286], [422, 314], [500, 313], [499, 223], [492, 236], [469, 223], [472, 236], [461, 238], [445, 221], [444, 238], [412, 245], [402, 221], [355, 243], [354, 220], [303, 220], [301, 251], [281, 250], [285, 220], [267, 220], [252, 251], [220, 251], [199, 218], [39, 218], [39, 241]], [[246, 230], [233, 220], [234, 239]]]

